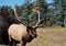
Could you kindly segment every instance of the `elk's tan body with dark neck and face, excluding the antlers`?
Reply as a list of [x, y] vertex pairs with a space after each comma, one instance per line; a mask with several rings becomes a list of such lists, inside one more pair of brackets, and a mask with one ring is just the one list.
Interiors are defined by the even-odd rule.
[[8, 30], [8, 34], [10, 43], [11, 38], [13, 38], [22, 44], [24, 43], [23, 41], [26, 43], [29, 39], [33, 39], [36, 35], [36, 33], [33, 33], [32, 28], [29, 30], [23, 24], [12, 24]]

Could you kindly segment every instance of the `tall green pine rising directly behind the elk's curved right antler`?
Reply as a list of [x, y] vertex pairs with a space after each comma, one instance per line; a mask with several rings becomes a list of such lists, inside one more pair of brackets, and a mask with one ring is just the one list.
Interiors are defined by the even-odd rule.
[[[47, 9], [48, 9], [47, 8], [47, 2], [45, 0], [35, 0], [33, 2], [33, 9], [36, 9], [36, 10], [38, 10], [41, 12], [41, 19], [44, 19], [43, 23], [45, 25], [46, 24], [46, 14], [47, 14]], [[35, 20], [37, 18], [35, 18]]]

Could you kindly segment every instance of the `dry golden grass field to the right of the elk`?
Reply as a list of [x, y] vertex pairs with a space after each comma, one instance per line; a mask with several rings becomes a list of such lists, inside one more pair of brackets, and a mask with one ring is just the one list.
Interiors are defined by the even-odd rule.
[[66, 46], [66, 27], [37, 28], [37, 37], [26, 46]]

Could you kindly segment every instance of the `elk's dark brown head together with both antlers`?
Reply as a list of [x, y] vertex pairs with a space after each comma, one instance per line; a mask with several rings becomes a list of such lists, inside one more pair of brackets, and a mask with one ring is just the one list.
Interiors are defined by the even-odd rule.
[[38, 14], [38, 15], [37, 15], [37, 16], [38, 16], [38, 21], [37, 21], [37, 23], [36, 23], [35, 25], [31, 25], [31, 26], [30, 26], [30, 25], [26, 25], [25, 23], [23, 23], [23, 22], [19, 19], [19, 16], [18, 16], [18, 14], [16, 14], [16, 8], [14, 8], [14, 14], [15, 14], [18, 21], [20, 21], [23, 25], [26, 26], [28, 33], [29, 33], [29, 35], [30, 35], [31, 38], [34, 38], [34, 37], [37, 36], [37, 34], [36, 34], [36, 28], [38, 27], [38, 24], [40, 24], [41, 21], [42, 21], [42, 20], [40, 20], [40, 12], [38, 12], [37, 10], [34, 10], [34, 9], [33, 9], [33, 11]]

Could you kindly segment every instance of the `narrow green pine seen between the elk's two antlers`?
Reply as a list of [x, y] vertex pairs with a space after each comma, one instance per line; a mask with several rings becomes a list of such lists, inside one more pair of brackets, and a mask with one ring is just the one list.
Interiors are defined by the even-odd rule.
[[22, 20], [25, 21], [25, 23], [29, 25], [29, 15], [31, 13], [31, 3], [30, 0], [26, 0], [23, 5], [21, 5], [21, 15]]

